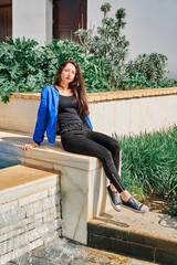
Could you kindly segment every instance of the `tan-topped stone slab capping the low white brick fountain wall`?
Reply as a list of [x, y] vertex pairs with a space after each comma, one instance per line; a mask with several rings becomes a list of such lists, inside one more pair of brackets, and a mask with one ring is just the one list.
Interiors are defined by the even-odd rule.
[[0, 170], [0, 204], [58, 186], [60, 174], [22, 165], [4, 168]]

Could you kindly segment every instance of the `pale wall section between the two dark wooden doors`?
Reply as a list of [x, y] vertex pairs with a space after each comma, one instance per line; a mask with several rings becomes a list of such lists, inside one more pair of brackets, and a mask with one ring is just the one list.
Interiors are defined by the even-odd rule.
[[13, 0], [13, 38], [34, 39], [40, 45], [52, 41], [53, 0]]

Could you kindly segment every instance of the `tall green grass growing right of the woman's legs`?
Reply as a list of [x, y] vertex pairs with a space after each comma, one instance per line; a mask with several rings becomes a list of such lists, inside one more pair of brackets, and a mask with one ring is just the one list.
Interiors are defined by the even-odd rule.
[[145, 193], [167, 195], [170, 214], [177, 215], [177, 127], [154, 134], [114, 137], [122, 148], [122, 179], [126, 188], [144, 198]]

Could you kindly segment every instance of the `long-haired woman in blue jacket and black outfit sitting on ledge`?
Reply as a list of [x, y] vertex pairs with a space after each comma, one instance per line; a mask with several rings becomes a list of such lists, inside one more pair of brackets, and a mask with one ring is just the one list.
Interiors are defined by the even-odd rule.
[[[48, 141], [55, 142], [56, 123], [64, 150], [98, 158], [111, 184], [107, 194], [116, 211], [122, 205], [135, 212], [147, 212], [148, 206], [138, 202], [125, 189], [119, 172], [119, 145], [110, 136], [93, 131], [88, 116], [88, 105], [80, 66], [74, 61], [60, 65], [54, 76], [54, 85], [43, 88], [33, 142], [23, 149], [38, 147], [46, 130]], [[122, 197], [122, 205], [119, 201]]]

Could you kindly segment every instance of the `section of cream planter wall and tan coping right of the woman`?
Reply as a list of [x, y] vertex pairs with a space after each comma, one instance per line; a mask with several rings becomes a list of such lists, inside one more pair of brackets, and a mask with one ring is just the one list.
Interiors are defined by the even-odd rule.
[[177, 124], [177, 87], [88, 95], [94, 130], [118, 136], [167, 129]]

